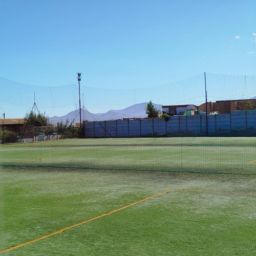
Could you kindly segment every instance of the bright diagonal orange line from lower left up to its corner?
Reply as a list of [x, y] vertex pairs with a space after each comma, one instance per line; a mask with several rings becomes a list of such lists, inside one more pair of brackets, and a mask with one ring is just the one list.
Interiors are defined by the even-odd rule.
[[130, 207], [130, 206], [135, 205], [135, 204], [138, 204], [138, 203], [143, 202], [143, 201], [145, 201], [145, 200], [147, 200], [147, 199], [151, 199], [151, 198], [153, 198], [153, 197], [160, 196], [160, 195], [162, 195], [162, 194], [164, 194], [164, 193], [167, 193], [167, 192], [169, 192], [169, 191], [172, 191], [172, 190], [173, 190], [173, 189], [168, 189], [168, 190], [162, 191], [161, 193], [158, 193], [158, 194], [153, 195], [153, 196], [151, 196], [151, 197], [146, 197], [146, 198], [141, 199], [141, 200], [139, 200], [139, 201], [137, 201], [137, 202], [134, 202], [134, 203], [125, 205], [125, 206], [123, 206], [123, 207], [121, 207], [121, 208], [119, 208], [119, 209], [112, 210], [112, 211], [108, 212], [107, 214], [102, 214], [102, 215], [99, 215], [99, 216], [97, 216], [97, 217], [91, 218], [91, 219], [89, 219], [89, 220], [82, 221], [82, 222], [79, 222], [79, 223], [77, 223], [77, 224], [74, 224], [74, 225], [72, 225], [72, 226], [65, 227], [65, 228], [61, 228], [61, 229], [59, 229], [58, 231], [55, 231], [55, 232], [50, 233], [50, 234], [46, 234], [46, 236], [43, 236], [43, 237], [40, 237], [40, 238], [36, 238], [36, 239], [30, 240], [30, 241], [28, 241], [28, 242], [26, 242], [26, 243], [19, 244], [19, 245], [16, 245], [16, 246], [12, 246], [12, 247], [10, 247], [10, 248], [8, 248], [8, 249], [5, 249], [5, 250], [3, 250], [3, 251], [0, 251], [0, 254], [1, 254], [1, 253], [4, 253], [4, 252], [7, 252], [7, 251], [10, 251], [10, 250], [13, 250], [13, 249], [16, 249], [16, 248], [19, 248], [19, 247], [22, 247], [22, 246], [24, 246], [24, 245], [28, 245], [28, 244], [34, 243], [34, 242], [39, 241], [39, 240], [42, 240], [42, 239], [44, 239], [44, 238], [51, 237], [51, 236], [53, 236], [54, 234], [61, 233], [61, 232], [65, 231], [65, 230], [67, 230], [67, 229], [70, 229], [70, 228], [73, 228], [73, 227], [82, 225], [82, 224], [84, 224], [84, 223], [87, 223], [87, 222], [90, 222], [90, 221], [99, 219], [99, 218], [101, 218], [101, 217], [104, 217], [104, 216], [107, 216], [107, 215], [110, 215], [110, 214], [113, 214], [113, 213], [116, 212], [116, 211], [125, 209], [125, 208]]

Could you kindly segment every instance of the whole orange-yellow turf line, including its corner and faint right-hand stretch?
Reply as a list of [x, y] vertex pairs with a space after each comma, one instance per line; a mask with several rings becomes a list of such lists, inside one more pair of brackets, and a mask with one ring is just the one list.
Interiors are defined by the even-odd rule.
[[94, 217], [94, 218], [91, 218], [91, 219], [89, 219], [89, 220], [82, 221], [82, 222], [79, 222], [79, 223], [77, 223], [77, 224], [71, 225], [71, 226], [69, 226], [69, 227], [61, 228], [61, 229], [59, 229], [59, 230], [57, 230], [57, 231], [55, 231], [55, 232], [53, 232], [53, 233], [46, 234], [46, 236], [42, 236], [42, 237], [40, 237], [40, 238], [36, 238], [36, 239], [30, 240], [30, 241], [28, 241], [28, 242], [26, 242], [26, 243], [12, 246], [12, 247], [7, 248], [7, 249], [5, 249], [5, 250], [3, 250], [3, 251], [0, 251], [0, 254], [2, 254], [2, 253], [4, 253], [4, 252], [7, 252], [7, 251], [10, 251], [10, 250], [13, 250], [13, 249], [16, 249], [16, 248], [19, 248], [19, 247], [22, 247], [22, 246], [24, 246], [24, 245], [28, 245], [28, 244], [34, 243], [34, 242], [36, 242], [36, 241], [39, 241], [39, 240], [42, 240], [42, 239], [51, 237], [51, 236], [53, 236], [54, 234], [59, 234], [59, 233], [65, 231], [65, 230], [67, 230], [67, 229], [70, 229], [70, 228], [73, 228], [73, 227], [76, 227], [76, 226], [85, 224], [85, 223], [90, 222], [90, 221], [94, 221], [94, 220], [99, 219], [99, 218], [101, 218], [101, 217], [111, 215], [111, 214], [113, 214], [113, 213], [116, 212], [116, 211], [125, 209], [125, 208], [127, 208], [127, 207], [132, 206], [132, 205], [141, 203], [141, 202], [143, 202], [143, 201], [145, 201], [145, 200], [148, 200], [148, 199], [151, 199], [151, 198], [160, 196], [160, 195], [162, 195], [162, 194], [168, 193], [169, 191], [192, 191], [192, 192], [209, 192], [209, 193], [227, 193], [227, 194], [256, 195], [256, 193], [250, 193], [250, 192], [236, 192], [236, 191], [219, 191], [219, 190], [202, 190], [202, 189], [171, 188], [171, 189], [162, 191], [162, 192], [160, 192], [160, 193], [158, 193], [158, 194], [156, 194], [156, 195], [153, 195], [153, 196], [150, 196], [150, 197], [146, 197], [146, 198], [141, 199], [141, 200], [139, 200], [139, 201], [136, 201], [136, 202], [134, 202], [134, 203], [125, 205], [125, 206], [123, 206], [123, 207], [121, 207], [121, 208], [112, 210], [112, 211], [108, 212], [107, 214], [102, 214], [102, 215], [96, 216], [96, 217]]

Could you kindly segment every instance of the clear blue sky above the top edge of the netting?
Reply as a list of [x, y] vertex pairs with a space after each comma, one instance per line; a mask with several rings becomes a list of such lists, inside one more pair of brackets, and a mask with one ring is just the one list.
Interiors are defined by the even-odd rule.
[[1, 0], [0, 77], [56, 87], [82, 72], [84, 87], [133, 89], [254, 76], [255, 13], [254, 0]]

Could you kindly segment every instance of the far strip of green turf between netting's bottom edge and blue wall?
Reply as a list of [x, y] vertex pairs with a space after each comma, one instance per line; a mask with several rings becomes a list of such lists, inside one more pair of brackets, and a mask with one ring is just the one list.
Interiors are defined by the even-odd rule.
[[0, 165], [256, 174], [256, 137], [72, 139], [0, 146]]

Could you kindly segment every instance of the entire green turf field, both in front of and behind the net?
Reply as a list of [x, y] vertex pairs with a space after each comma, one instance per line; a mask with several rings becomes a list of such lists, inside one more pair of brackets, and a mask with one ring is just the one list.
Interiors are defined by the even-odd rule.
[[1, 145], [0, 253], [256, 255], [255, 154], [255, 138]]

